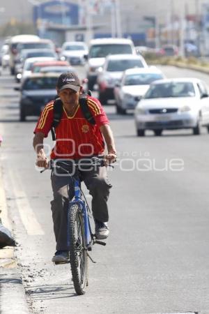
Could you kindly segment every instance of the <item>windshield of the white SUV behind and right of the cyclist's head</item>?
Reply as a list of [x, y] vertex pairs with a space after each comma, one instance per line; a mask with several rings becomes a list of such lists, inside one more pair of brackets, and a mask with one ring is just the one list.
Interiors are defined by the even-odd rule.
[[90, 58], [104, 58], [108, 54], [132, 54], [132, 47], [123, 44], [93, 45], [89, 51]]

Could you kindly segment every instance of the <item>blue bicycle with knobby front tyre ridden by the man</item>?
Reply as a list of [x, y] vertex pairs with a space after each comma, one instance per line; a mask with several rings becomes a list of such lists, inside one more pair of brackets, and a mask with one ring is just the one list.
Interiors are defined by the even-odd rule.
[[[102, 158], [93, 157], [92, 166], [104, 166], [104, 160]], [[105, 246], [106, 243], [99, 241], [91, 229], [90, 218], [92, 217], [91, 209], [88, 206], [86, 197], [81, 188], [81, 179], [79, 177], [79, 163], [73, 162], [75, 166], [75, 174], [71, 174], [70, 171], [66, 170], [63, 166], [69, 165], [59, 160], [59, 165], [56, 161], [50, 160], [48, 169], [56, 170], [60, 169], [68, 173], [70, 179], [74, 182], [75, 196], [73, 200], [69, 199], [68, 204], [68, 246], [70, 247], [70, 263], [72, 281], [77, 294], [82, 295], [85, 293], [85, 288], [88, 286], [88, 257], [93, 261], [91, 256], [88, 254], [92, 251], [94, 244], [100, 244]], [[112, 165], [109, 165], [113, 167]], [[44, 172], [45, 170], [42, 170]], [[61, 263], [55, 263], [61, 264]]]

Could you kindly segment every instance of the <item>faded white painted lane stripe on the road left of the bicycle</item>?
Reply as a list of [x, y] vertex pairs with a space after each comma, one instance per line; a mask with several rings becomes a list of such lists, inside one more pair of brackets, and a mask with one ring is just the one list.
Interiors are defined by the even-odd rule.
[[42, 230], [40, 223], [33, 213], [33, 209], [29, 204], [29, 200], [24, 193], [24, 188], [22, 182], [17, 172], [10, 170], [10, 179], [13, 184], [13, 191], [15, 194], [15, 202], [17, 204], [17, 209], [20, 213], [20, 218], [29, 235], [42, 235], [45, 232]]

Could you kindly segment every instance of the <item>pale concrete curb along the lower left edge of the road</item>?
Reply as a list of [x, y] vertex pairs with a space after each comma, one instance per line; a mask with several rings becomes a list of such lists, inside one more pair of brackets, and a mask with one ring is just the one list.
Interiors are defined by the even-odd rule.
[[[0, 210], [3, 225], [11, 230], [6, 205], [6, 193], [3, 188], [2, 168], [0, 167]], [[26, 294], [22, 285], [20, 271], [15, 261], [15, 249], [0, 249], [0, 313], [28, 314]]]

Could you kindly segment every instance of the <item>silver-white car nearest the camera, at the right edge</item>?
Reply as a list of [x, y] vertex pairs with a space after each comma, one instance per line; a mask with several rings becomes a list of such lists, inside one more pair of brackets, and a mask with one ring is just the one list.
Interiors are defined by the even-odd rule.
[[162, 130], [191, 128], [194, 135], [201, 126], [209, 130], [208, 86], [196, 78], [158, 80], [150, 84], [134, 112], [138, 136], [146, 130], [162, 135]]

